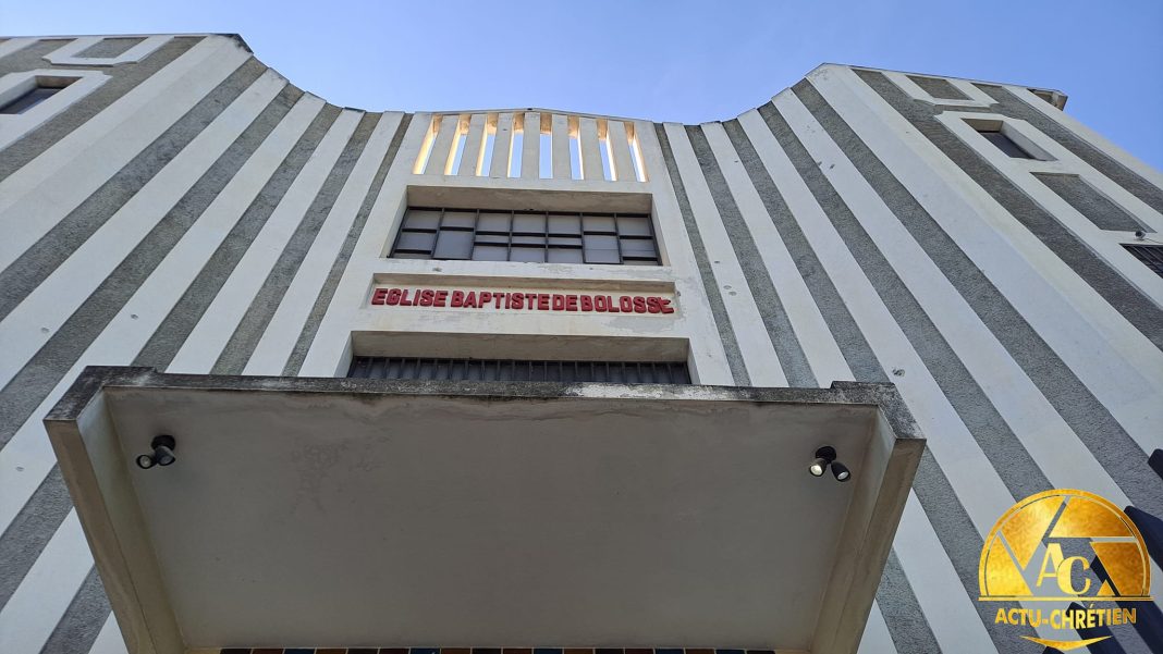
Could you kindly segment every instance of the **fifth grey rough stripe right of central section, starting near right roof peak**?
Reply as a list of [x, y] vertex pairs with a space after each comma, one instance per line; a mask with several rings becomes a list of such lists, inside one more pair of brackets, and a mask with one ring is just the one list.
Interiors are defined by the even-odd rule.
[[[811, 88], [811, 87], [807, 87]], [[842, 144], [877, 195], [913, 235], [926, 254], [965, 299], [1006, 352], [1026, 372], [1050, 405], [1070, 425], [1127, 497], [1146, 511], [1163, 515], [1163, 480], [1147, 465], [1147, 454], [1094, 397], [1054, 350], [1022, 318], [968, 254], [933, 220], [915, 197], [840, 118], [814, 88], [800, 95], [834, 141]], [[823, 122], [823, 121], [821, 121]]]

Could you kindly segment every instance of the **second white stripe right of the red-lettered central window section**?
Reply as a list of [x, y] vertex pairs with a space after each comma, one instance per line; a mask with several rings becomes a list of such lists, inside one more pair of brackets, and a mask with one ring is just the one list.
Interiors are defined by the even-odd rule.
[[[747, 117], [745, 122], [744, 116]], [[754, 128], [756, 124], [762, 124], [763, 118], [758, 112], [751, 110], [740, 116], [740, 122]], [[808, 292], [804, 276], [799, 274], [795, 261], [792, 260], [779, 231], [772, 224], [771, 217], [763, 206], [763, 200], [759, 199], [758, 192], [751, 185], [747, 170], [739, 161], [739, 153], [730, 144], [722, 124], [708, 123], [704, 131], [707, 135], [711, 150], [715, 154], [715, 160], [719, 163], [719, 170], [722, 171], [732, 196], [735, 197], [739, 213], [743, 216], [743, 221], [755, 239], [756, 249], [758, 249], [768, 269], [768, 276], [771, 278], [771, 282], [779, 294], [779, 301], [784, 306], [784, 311], [787, 314], [787, 319], [797, 339], [799, 339], [800, 347], [804, 350], [804, 355], [812, 367], [812, 374], [815, 375], [818, 385], [826, 388], [836, 380], [851, 380], [852, 373], [848, 369], [840, 346], [832, 337], [832, 331], [823, 321], [811, 292]]]

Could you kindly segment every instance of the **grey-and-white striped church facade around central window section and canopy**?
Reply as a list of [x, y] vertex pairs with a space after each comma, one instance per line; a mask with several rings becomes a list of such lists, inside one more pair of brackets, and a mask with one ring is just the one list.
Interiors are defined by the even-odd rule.
[[[124, 652], [40, 423], [84, 366], [338, 369], [369, 261], [431, 265], [379, 258], [430, 115], [335, 107], [231, 37], [77, 41], [0, 42], [0, 93], [27, 71], [101, 73], [44, 120], [0, 122], [5, 653]], [[486, 114], [462, 127], [508, 124], [473, 122]], [[964, 117], [1054, 160], [1008, 160]], [[975, 601], [983, 539], [1018, 498], [1082, 488], [1163, 516], [1147, 463], [1163, 447], [1163, 279], [1120, 231], [1163, 240], [1163, 174], [1026, 87], [847, 66], [721, 123], [609, 124], [634, 135], [643, 179], [476, 181], [507, 177], [494, 150], [465, 184], [652, 194], [668, 266], [635, 274], [690, 283], [700, 380], [900, 388], [929, 448], [862, 652], [1034, 635]]]

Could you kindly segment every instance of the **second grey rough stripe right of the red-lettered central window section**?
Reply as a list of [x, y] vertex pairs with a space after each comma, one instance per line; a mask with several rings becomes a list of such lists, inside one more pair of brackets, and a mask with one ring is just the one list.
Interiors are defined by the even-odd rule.
[[751, 296], [755, 297], [759, 315], [763, 317], [768, 338], [771, 339], [771, 345], [779, 357], [787, 385], [795, 387], [816, 386], [812, 367], [808, 365], [799, 338], [797, 338], [791, 321], [787, 318], [784, 303], [779, 300], [779, 292], [776, 290], [776, 285], [768, 274], [763, 256], [751, 237], [751, 230], [748, 229], [739, 204], [735, 203], [730, 187], [727, 186], [722, 170], [720, 170], [711, 150], [711, 144], [707, 143], [706, 135], [701, 128], [695, 125], [688, 125], [686, 135], [691, 139], [691, 148], [702, 168], [702, 177], [707, 180], [707, 188], [711, 189], [715, 208], [719, 209], [719, 215], [722, 217], [723, 228], [730, 239], [732, 249], [735, 251], [735, 258], [739, 259], [740, 268], [743, 271], [743, 278], [747, 279]]

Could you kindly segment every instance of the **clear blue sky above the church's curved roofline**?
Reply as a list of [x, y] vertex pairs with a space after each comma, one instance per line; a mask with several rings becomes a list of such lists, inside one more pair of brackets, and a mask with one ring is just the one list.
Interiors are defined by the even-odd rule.
[[1163, 2], [0, 0], [6, 35], [237, 33], [338, 105], [727, 120], [823, 62], [1058, 88], [1163, 168]]

